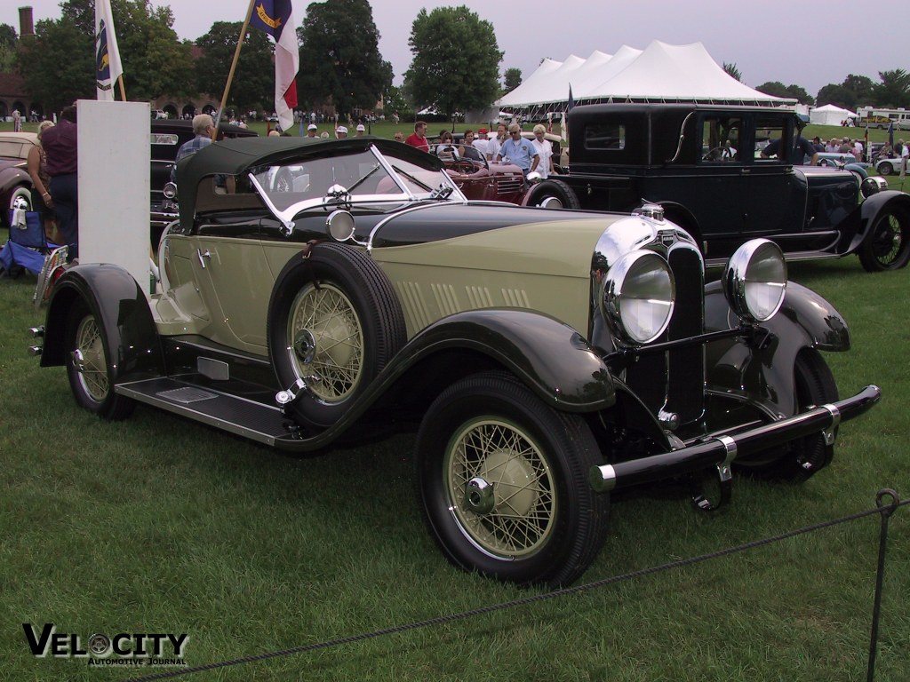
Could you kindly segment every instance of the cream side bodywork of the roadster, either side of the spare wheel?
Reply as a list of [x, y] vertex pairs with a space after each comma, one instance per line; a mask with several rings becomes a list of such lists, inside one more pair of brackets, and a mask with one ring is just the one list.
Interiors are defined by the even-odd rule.
[[[374, 249], [372, 256], [399, 294], [409, 338], [442, 317], [487, 307], [538, 310], [586, 334], [591, 254], [614, 220], [509, 226]], [[301, 248], [296, 242], [167, 236], [162, 266], [170, 288], [153, 306], [161, 333], [199, 334], [266, 356], [268, 298], [281, 268]]]

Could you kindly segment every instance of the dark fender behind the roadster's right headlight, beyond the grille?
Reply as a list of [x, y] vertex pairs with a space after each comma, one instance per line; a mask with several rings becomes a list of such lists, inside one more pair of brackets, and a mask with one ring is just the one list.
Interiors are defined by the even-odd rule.
[[[720, 282], [705, 287], [705, 331], [733, 329], [738, 320]], [[845, 351], [850, 332], [834, 306], [811, 289], [787, 283], [784, 305], [751, 341], [722, 339], [705, 350], [708, 389], [741, 397], [774, 418], [796, 413], [794, 366], [803, 348]]]

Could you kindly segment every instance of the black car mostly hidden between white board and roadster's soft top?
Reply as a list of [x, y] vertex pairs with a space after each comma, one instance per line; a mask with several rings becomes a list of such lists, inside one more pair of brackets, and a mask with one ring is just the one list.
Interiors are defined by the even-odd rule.
[[[218, 139], [232, 139], [257, 135], [254, 131], [238, 125], [218, 125]], [[151, 243], [157, 246], [165, 227], [177, 220], [177, 203], [164, 195], [164, 188], [171, 179], [171, 170], [177, 158], [180, 145], [193, 139], [193, 122], [153, 118], [149, 141], [151, 144]]]

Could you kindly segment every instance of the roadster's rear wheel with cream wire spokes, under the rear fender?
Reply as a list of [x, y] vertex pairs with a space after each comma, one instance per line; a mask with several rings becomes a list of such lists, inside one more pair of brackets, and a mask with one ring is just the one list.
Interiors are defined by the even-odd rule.
[[79, 406], [105, 419], [130, 416], [136, 402], [114, 392], [105, 329], [83, 302], [73, 306], [66, 326], [66, 375]]

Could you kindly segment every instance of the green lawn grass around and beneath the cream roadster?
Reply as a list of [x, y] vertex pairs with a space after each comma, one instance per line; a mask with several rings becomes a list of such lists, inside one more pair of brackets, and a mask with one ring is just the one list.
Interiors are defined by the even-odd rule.
[[[0, 231], [0, 242], [5, 234]], [[791, 266], [851, 324], [828, 354], [841, 395], [883, 400], [840, 429], [803, 486], [736, 479], [696, 512], [669, 486], [612, 506], [581, 582], [612, 577], [910, 496], [908, 271], [850, 256]], [[122, 680], [136, 670], [35, 658], [23, 623], [59, 632], [187, 633], [203, 665], [535, 594], [456, 570], [420, 520], [413, 436], [282, 456], [139, 406], [121, 423], [76, 407], [63, 368], [25, 354], [35, 278], [0, 279], [0, 680]], [[910, 670], [910, 509], [891, 522], [879, 682]], [[859, 680], [878, 517], [581, 595], [197, 674], [200, 680]], [[155, 672], [167, 668], [147, 668]]]

